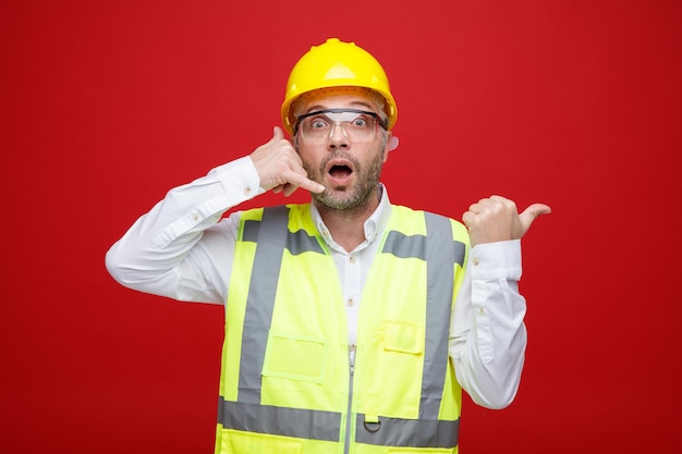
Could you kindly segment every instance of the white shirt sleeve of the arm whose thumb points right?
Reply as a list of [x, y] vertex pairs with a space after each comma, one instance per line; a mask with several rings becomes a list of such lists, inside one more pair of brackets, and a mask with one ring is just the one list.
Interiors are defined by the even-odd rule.
[[474, 246], [452, 312], [450, 356], [456, 379], [487, 408], [511, 404], [521, 381], [527, 342], [521, 272], [520, 241]]

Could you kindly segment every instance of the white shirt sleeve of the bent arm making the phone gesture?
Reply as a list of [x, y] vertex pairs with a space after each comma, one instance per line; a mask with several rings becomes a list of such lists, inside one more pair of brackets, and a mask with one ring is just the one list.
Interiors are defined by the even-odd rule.
[[141, 292], [223, 304], [239, 213], [222, 217], [263, 193], [249, 157], [215, 168], [171, 189], [137, 219], [107, 251], [107, 270], [122, 285]]

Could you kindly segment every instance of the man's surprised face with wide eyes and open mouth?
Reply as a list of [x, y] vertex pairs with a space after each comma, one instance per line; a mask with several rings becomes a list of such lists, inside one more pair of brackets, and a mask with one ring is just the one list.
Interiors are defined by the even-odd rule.
[[[358, 93], [310, 97], [306, 99], [302, 114], [327, 109], [379, 113], [373, 99]], [[306, 119], [309, 127], [326, 123], [326, 134], [312, 140], [310, 135], [306, 135], [300, 125], [296, 137], [297, 150], [308, 177], [326, 187], [324, 193], [313, 194], [313, 198], [333, 210], [356, 210], [377, 203], [377, 187], [387, 159], [386, 144], [390, 133], [385, 133], [378, 124], [373, 123], [375, 130], [372, 136], [366, 135], [366, 132], [356, 134], [352, 131], [353, 126], [333, 121], [353, 119], [354, 113], [331, 113], [328, 116], [329, 121], [320, 116], [321, 122], [318, 122], [317, 115]], [[364, 118], [367, 119], [366, 115]]]

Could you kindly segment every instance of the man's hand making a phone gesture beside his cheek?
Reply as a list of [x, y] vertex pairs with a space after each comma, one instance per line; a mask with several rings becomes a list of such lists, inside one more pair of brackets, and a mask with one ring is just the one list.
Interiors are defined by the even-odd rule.
[[301, 157], [278, 126], [275, 126], [270, 142], [251, 154], [251, 160], [265, 191], [272, 189], [285, 196], [292, 195], [299, 187], [313, 193], [325, 191], [325, 186], [307, 177]]

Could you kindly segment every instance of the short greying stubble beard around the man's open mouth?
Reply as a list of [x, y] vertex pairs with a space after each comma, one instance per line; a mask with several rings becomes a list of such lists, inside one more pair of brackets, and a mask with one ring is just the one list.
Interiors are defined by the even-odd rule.
[[329, 155], [319, 164], [318, 169], [304, 161], [303, 168], [308, 174], [308, 177], [320, 184], [322, 183], [322, 176], [325, 175], [325, 169], [330, 160], [343, 158], [353, 163], [356, 184], [353, 187], [345, 188], [342, 192], [332, 192], [329, 188], [322, 193], [310, 193], [313, 199], [331, 210], [336, 211], [360, 211], [367, 206], [373, 194], [379, 186], [379, 177], [381, 176], [381, 168], [383, 167], [383, 157], [378, 154], [376, 158], [368, 162], [365, 169], [361, 163], [351, 155], [345, 151], [337, 151]]

